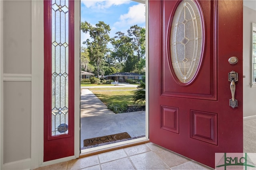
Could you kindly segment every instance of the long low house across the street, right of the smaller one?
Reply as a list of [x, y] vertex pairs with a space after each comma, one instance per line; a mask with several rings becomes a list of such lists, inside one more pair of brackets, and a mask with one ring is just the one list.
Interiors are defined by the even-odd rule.
[[106, 80], [114, 80], [118, 82], [125, 82], [126, 79], [142, 80], [142, 75], [133, 72], [116, 72], [111, 75], [104, 76]]

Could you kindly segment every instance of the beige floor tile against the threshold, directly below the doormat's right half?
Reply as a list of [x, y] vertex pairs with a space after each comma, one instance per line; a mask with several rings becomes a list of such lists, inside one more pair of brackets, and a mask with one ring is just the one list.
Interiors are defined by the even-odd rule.
[[118, 149], [118, 150], [113, 150], [110, 152], [99, 154], [99, 159], [101, 164], [112, 161], [112, 160], [124, 158], [124, 157], [127, 157], [127, 154], [124, 152], [124, 149]]

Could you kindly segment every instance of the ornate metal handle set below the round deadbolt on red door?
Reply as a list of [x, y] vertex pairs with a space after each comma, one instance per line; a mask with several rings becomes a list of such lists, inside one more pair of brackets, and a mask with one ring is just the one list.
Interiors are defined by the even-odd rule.
[[229, 106], [233, 109], [238, 107], [238, 101], [235, 99], [236, 92], [236, 82], [238, 81], [238, 73], [235, 71], [231, 71], [228, 73], [228, 81], [230, 81], [230, 91], [232, 98], [229, 100]]

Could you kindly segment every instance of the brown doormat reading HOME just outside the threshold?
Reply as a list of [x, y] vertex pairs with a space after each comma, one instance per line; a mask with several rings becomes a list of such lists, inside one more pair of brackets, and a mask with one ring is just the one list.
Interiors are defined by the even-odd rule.
[[84, 147], [90, 146], [90, 145], [96, 145], [100, 143], [107, 143], [112, 141], [121, 141], [122, 139], [129, 139], [131, 138], [130, 135], [127, 132], [123, 133], [117, 133], [114, 135], [107, 135], [102, 137], [94, 137], [90, 139], [84, 139]]

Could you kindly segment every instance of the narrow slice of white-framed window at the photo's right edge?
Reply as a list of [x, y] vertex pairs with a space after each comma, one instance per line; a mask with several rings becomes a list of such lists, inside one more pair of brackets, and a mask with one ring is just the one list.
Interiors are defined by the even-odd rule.
[[252, 86], [256, 87], [256, 23], [252, 23]]

